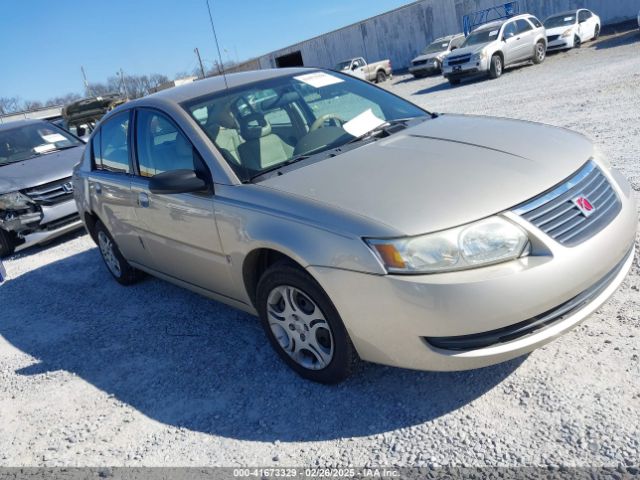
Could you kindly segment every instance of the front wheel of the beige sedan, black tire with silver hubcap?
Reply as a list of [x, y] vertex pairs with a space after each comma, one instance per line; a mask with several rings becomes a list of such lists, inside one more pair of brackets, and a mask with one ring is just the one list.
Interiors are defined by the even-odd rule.
[[267, 269], [258, 282], [256, 307], [278, 355], [307, 380], [336, 384], [358, 361], [349, 334], [322, 287], [288, 262]]

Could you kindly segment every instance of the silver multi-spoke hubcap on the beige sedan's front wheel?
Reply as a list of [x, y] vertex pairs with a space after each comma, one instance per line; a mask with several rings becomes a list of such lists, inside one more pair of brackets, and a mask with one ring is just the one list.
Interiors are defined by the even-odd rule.
[[333, 334], [320, 307], [301, 290], [281, 285], [267, 298], [269, 327], [297, 364], [321, 370], [333, 358]]

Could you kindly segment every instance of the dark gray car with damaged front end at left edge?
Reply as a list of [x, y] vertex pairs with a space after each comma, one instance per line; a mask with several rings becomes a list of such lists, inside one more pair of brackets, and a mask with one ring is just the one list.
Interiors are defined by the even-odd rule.
[[71, 170], [83, 149], [44, 120], [0, 125], [0, 257], [82, 228]]

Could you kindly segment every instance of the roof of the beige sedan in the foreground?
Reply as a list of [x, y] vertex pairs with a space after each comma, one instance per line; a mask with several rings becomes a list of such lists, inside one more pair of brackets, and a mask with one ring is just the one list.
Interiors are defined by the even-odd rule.
[[[192, 100], [194, 98], [208, 95], [211, 93], [221, 92], [228, 88], [241, 87], [253, 82], [261, 80], [269, 80], [271, 78], [284, 77], [292, 74], [304, 74], [315, 71], [317, 69], [312, 68], [272, 68], [266, 70], [251, 70], [247, 72], [228, 73], [225, 78], [222, 75], [215, 77], [209, 77], [202, 80], [196, 80], [195, 82], [180, 85], [177, 87], [161, 90], [152, 95], [141, 98], [146, 99], [158, 99], [169, 102], [182, 103]], [[139, 100], [129, 102], [129, 104], [135, 105], [141, 103]]]

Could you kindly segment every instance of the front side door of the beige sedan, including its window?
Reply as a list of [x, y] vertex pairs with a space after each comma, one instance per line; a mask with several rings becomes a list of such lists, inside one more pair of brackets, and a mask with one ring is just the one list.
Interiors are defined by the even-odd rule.
[[149, 179], [171, 170], [211, 177], [204, 161], [164, 113], [140, 108], [135, 115], [136, 174], [131, 180], [137, 231], [152, 257], [150, 268], [208, 291], [232, 296], [211, 192], [156, 194]]

